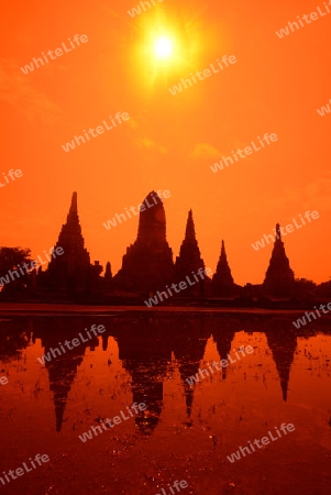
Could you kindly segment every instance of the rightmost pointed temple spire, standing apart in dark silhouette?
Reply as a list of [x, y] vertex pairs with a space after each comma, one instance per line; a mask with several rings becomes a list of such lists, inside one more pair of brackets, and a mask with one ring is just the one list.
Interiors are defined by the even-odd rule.
[[269, 266], [265, 274], [263, 287], [266, 293], [277, 297], [288, 297], [294, 288], [295, 274], [289, 266], [288, 257], [285, 253], [284, 242], [280, 237], [280, 226], [276, 224], [275, 244], [269, 261]]

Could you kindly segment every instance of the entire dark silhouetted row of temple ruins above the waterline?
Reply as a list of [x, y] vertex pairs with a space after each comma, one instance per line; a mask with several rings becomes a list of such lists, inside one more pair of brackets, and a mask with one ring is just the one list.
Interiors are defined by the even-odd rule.
[[[179, 254], [173, 261], [173, 250], [166, 239], [164, 205], [155, 191], [151, 191], [141, 204], [136, 240], [128, 246], [122, 266], [115, 275], [111, 272], [110, 261], [107, 262], [104, 275], [101, 275], [103, 267], [99, 261], [91, 264], [79, 222], [77, 193], [73, 194], [66, 223], [60, 229], [54, 249], [57, 248], [62, 248], [64, 254], [52, 258], [45, 272], [41, 267], [37, 275], [32, 275], [37, 299], [48, 298], [52, 301], [53, 297], [57, 301], [58, 295], [85, 295], [85, 302], [130, 304], [134, 300], [135, 304], [143, 304], [146, 297], [152, 297], [157, 290], [178, 284], [206, 267], [196, 237], [192, 210], [188, 212]], [[174, 293], [165, 302], [179, 304], [208, 298], [210, 301], [223, 299], [250, 306], [254, 298], [293, 299], [296, 284], [277, 223], [269, 265], [262, 284], [246, 284], [244, 287], [235, 284], [222, 241], [212, 277], [206, 275], [203, 280], [188, 286], [179, 294]]]

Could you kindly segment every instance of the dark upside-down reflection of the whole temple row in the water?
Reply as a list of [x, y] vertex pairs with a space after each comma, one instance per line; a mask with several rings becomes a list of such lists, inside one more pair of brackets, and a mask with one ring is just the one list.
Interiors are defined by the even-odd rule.
[[[107, 332], [101, 336], [103, 352], [107, 351], [110, 336], [118, 342], [119, 358], [132, 378], [132, 402], [145, 403], [147, 406], [145, 411], [135, 417], [135, 424], [143, 435], [153, 433], [158, 425], [164, 400], [163, 384], [170, 371], [173, 356], [178, 363], [186, 411], [190, 417], [194, 394], [199, 385], [189, 386], [186, 378], [199, 372], [210, 336], [217, 344], [219, 360], [222, 360], [231, 352], [235, 332], [244, 330], [264, 333], [278, 372], [283, 400], [286, 402], [297, 338], [316, 334], [311, 329], [293, 329], [291, 318], [275, 316], [247, 318], [244, 315], [235, 315], [209, 318], [201, 314], [197, 317], [165, 314], [157, 315], [154, 319], [140, 316], [108, 319], [108, 322], [104, 319], [101, 321], [100, 317], [88, 318], [91, 324], [104, 323], [107, 328]], [[43, 353], [47, 353], [51, 348], [57, 348], [58, 342], [77, 337], [88, 326], [87, 317], [69, 320], [55, 318], [52, 321], [49, 318], [37, 319], [27, 324], [5, 323], [5, 331], [4, 328], [0, 331], [0, 361], [15, 360], [20, 352], [37, 338], [44, 346]], [[99, 341], [95, 338], [45, 363], [49, 389], [53, 393], [57, 431], [62, 429], [66, 403], [86, 349], [93, 350], [98, 345]], [[220, 373], [222, 378], [227, 380], [227, 367]]]

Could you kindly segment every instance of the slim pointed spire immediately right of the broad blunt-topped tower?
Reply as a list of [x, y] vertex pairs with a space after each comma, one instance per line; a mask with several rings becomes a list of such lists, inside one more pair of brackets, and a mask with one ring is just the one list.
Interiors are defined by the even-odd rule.
[[[200, 250], [196, 239], [195, 223], [192, 217], [192, 210], [188, 212], [188, 219], [186, 223], [185, 239], [181, 243], [179, 256], [176, 257], [176, 282], [185, 280], [186, 276], [197, 273], [199, 268], [205, 270], [205, 263], [200, 255]], [[183, 296], [185, 295], [199, 295], [203, 292], [203, 280], [189, 286]]]

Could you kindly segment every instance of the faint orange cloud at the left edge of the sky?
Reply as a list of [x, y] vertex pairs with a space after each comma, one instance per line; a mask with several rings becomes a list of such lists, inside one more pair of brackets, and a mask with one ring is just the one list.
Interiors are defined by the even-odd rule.
[[31, 122], [53, 124], [59, 109], [45, 94], [37, 90], [30, 78], [32, 74], [22, 74], [13, 59], [0, 59], [0, 100], [24, 113]]

